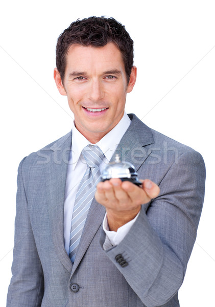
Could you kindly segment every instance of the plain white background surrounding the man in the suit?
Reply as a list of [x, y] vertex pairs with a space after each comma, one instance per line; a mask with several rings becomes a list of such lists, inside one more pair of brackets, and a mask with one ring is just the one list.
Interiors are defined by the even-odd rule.
[[[58, 35], [78, 19], [114, 17], [134, 40], [138, 79], [127, 113], [204, 157], [206, 195], [179, 291], [181, 307], [214, 306], [214, 1], [7, 1], [0, 12], [0, 305], [11, 278], [17, 167], [71, 128], [53, 79]], [[117, 306], [114, 306], [117, 307]]]

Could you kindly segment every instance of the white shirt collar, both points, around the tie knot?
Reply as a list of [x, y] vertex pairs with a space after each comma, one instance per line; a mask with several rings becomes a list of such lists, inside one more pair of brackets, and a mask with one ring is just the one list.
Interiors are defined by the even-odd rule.
[[[109, 131], [96, 145], [100, 147], [103, 151], [107, 161], [109, 163], [110, 159], [116, 147], [120, 143], [123, 135], [128, 129], [131, 123], [130, 118], [126, 113], [124, 113], [123, 118], [118, 122], [118, 124]], [[80, 158], [81, 152], [83, 148], [90, 144], [90, 142], [79, 132], [73, 122], [73, 134], [72, 134], [72, 142], [71, 142], [71, 159], [72, 159], [72, 167], [75, 169], [76, 164]]]

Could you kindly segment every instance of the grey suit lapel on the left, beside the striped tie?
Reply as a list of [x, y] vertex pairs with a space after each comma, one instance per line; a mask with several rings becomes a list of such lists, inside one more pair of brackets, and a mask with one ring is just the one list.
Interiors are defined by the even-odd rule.
[[49, 193], [49, 214], [53, 229], [53, 242], [56, 253], [63, 266], [71, 272], [71, 261], [64, 248], [64, 194], [71, 133], [67, 134], [50, 147], [51, 161], [46, 164], [46, 183]]

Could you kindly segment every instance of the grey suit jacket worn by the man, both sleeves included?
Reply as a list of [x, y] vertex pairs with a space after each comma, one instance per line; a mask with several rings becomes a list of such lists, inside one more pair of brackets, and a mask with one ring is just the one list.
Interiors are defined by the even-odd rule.
[[116, 151], [140, 179], [158, 184], [160, 195], [142, 205], [126, 237], [106, 251], [105, 209], [93, 200], [74, 265], [63, 239], [71, 133], [21, 161], [7, 307], [179, 306], [203, 204], [204, 162], [193, 149], [130, 118]]

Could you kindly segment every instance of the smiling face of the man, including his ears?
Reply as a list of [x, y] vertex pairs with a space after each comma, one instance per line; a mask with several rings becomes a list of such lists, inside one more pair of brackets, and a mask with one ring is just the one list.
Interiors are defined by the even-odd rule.
[[121, 52], [114, 43], [104, 47], [72, 45], [63, 82], [57, 69], [54, 78], [60, 94], [67, 96], [76, 128], [91, 143], [97, 143], [122, 119], [136, 68], [132, 68], [128, 84]]

